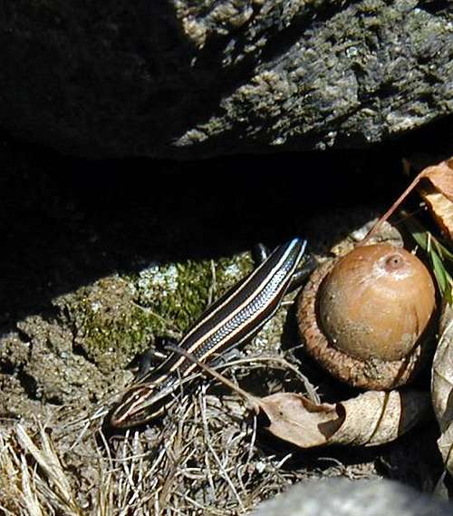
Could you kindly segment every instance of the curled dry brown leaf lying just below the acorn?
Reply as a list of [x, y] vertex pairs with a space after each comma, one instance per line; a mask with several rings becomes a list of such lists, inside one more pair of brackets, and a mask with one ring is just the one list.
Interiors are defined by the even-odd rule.
[[429, 414], [429, 394], [368, 391], [337, 404], [314, 404], [301, 394], [272, 394], [260, 408], [269, 432], [301, 448], [389, 443]]

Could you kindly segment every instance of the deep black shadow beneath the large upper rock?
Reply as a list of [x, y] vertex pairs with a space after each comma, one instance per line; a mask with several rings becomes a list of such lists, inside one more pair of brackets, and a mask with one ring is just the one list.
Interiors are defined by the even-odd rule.
[[[443, 123], [451, 129], [451, 119]], [[364, 222], [393, 200], [407, 182], [401, 156], [423, 138], [361, 151], [176, 162], [85, 161], [4, 136], [0, 329], [114, 271], [217, 258], [294, 235], [315, 246], [337, 230], [327, 219], [316, 233], [326, 211], [365, 206]]]

